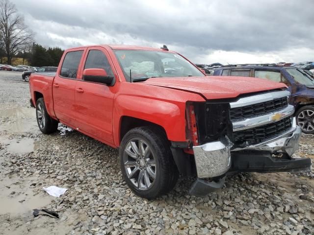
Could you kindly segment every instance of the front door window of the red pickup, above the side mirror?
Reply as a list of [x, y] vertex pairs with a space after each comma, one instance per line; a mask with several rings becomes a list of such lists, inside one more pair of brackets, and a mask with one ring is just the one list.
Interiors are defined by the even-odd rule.
[[85, 62], [84, 70], [85, 69], [103, 69], [107, 72], [108, 76], [113, 75], [108, 59], [101, 50], [89, 50]]

